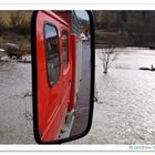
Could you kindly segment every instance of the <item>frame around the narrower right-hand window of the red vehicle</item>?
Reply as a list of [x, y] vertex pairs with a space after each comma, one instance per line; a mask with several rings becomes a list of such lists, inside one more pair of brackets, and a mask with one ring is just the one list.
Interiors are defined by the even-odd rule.
[[[63, 32], [65, 32], [65, 33], [63, 33]], [[63, 62], [63, 40], [62, 40], [62, 69], [63, 70], [66, 70], [68, 69], [68, 66], [69, 66], [69, 62], [70, 62], [70, 53], [69, 53], [69, 32], [68, 32], [68, 30], [66, 29], [62, 29], [61, 30], [61, 38], [63, 37], [63, 35], [66, 35], [66, 54], [68, 54], [68, 62], [66, 62], [66, 65], [64, 66], [64, 62]]]

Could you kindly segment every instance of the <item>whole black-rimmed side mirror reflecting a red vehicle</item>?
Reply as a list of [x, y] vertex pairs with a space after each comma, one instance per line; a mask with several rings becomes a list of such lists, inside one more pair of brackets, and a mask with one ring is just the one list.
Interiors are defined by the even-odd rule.
[[34, 137], [40, 144], [86, 135], [94, 100], [91, 11], [34, 11], [31, 21]]

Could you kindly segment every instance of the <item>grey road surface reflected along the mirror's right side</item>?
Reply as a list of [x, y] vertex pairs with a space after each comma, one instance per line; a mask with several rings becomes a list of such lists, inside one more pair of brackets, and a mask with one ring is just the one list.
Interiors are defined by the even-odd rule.
[[75, 120], [71, 131], [71, 136], [81, 134], [87, 126], [87, 116], [90, 107], [90, 83], [91, 83], [91, 65], [90, 65], [90, 44], [82, 44], [82, 81], [79, 89], [79, 97], [75, 103]]

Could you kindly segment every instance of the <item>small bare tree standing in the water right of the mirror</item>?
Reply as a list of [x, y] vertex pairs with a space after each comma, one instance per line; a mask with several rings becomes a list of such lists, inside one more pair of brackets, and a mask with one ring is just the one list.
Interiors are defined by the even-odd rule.
[[99, 58], [103, 62], [103, 73], [107, 73], [112, 62], [116, 59], [116, 56], [117, 54], [114, 52], [114, 46], [112, 45], [106, 45], [101, 52], [99, 52]]

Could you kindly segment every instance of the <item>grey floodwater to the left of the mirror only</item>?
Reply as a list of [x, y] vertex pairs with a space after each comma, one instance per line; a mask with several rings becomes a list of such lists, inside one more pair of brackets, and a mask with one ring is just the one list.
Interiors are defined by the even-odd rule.
[[34, 143], [31, 94], [31, 63], [3, 58], [0, 62], [0, 144]]

